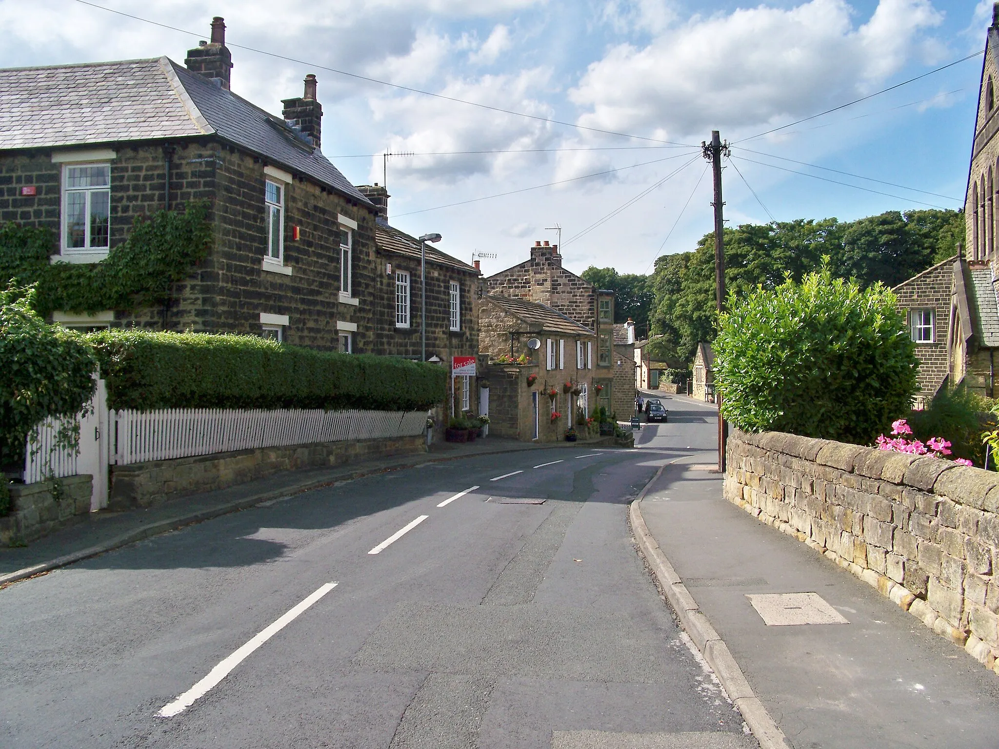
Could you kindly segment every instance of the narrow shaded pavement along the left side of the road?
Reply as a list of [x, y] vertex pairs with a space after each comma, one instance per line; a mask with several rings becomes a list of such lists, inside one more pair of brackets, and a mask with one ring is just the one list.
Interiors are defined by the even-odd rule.
[[[579, 445], [590, 443], [602, 444], [603, 440], [576, 442]], [[329, 468], [283, 471], [225, 489], [178, 496], [152, 507], [94, 512], [82, 522], [61, 528], [27, 546], [0, 547], [0, 586], [193, 522], [321, 486], [427, 462], [552, 446], [566, 447], [571, 443], [552, 445], [496, 436], [481, 437], [474, 442], [435, 442], [428, 452], [393, 455]]]

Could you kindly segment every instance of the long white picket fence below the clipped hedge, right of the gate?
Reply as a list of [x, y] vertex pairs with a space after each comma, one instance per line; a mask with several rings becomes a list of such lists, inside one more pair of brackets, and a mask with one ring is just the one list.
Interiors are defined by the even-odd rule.
[[119, 465], [255, 447], [285, 447], [378, 437], [416, 436], [426, 411], [235, 410], [168, 408], [112, 410], [112, 454]]

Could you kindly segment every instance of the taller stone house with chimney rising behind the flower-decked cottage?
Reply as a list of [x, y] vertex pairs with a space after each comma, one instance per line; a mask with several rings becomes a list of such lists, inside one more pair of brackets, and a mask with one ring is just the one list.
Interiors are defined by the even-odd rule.
[[562, 268], [561, 261], [557, 246], [535, 242], [529, 260], [486, 279], [487, 294], [544, 305], [590, 331], [595, 337], [593, 378], [601, 385], [590, 408], [599, 404], [626, 418], [635, 396], [633, 359], [626, 345], [615, 351], [614, 293]]

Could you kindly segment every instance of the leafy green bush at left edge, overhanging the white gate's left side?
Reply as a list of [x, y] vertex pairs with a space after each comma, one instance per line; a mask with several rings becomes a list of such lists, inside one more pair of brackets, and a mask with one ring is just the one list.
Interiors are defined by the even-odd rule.
[[[33, 288], [0, 290], [0, 466], [23, 466], [28, 435], [49, 416], [78, 413], [94, 392], [90, 347], [45, 325], [34, 303]], [[74, 444], [75, 428], [61, 428], [57, 446]]]

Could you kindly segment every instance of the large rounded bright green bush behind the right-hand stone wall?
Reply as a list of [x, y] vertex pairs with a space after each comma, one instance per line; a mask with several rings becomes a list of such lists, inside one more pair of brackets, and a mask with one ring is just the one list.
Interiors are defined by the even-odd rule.
[[908, 414], [918, 361], [884, 286], [861, 290], [823, 265], [801, 284], [758, 287], [728, 305], [715, 377], [722, 413], [739, 428], [869, 444]]

